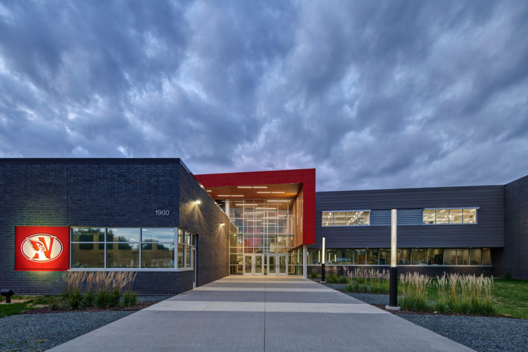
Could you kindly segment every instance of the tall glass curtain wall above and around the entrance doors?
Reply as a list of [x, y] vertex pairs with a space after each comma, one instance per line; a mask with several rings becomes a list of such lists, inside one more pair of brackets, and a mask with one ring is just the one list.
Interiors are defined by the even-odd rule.
[[[230, 234], [230, 274], [242, 274], [244, 256], [248, 254], [292, 254], [291, 265], [297, 265], [295, 247], [295, 212], [292, 199], [217, 200], [228, 210], [236, 232]], [[295, 259], [295, 260], [294, 260]], [[267, 262], [267, 260], [266, 260]], [[302, 271], [302, 263], [301, 263]], [[289, 274], [296, 274], [292, 268]], [[301, 273], [302, 274], [302, 273]]]

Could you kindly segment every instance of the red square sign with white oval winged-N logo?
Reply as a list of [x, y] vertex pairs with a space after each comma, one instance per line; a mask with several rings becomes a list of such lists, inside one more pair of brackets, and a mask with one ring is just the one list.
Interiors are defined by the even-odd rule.
[[15, 270], [69, 269], [67, 226], [17, 226]]

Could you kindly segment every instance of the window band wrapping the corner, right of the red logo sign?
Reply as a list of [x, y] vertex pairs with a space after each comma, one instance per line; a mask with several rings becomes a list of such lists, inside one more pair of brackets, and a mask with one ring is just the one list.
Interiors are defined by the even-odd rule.
[[[177, 228], [71, 228], [72, 268], [193, 267], [197, 236]], [[175, 245], [175, 240], [181, 241]]]

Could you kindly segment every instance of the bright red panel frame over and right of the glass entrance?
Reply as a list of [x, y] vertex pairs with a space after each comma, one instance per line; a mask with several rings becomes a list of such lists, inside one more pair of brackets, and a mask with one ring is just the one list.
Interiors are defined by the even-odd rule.
[[316, 169], [254, 171], [195, 175], [204, 187], [303, 184], [303, 243], [316, 241]]

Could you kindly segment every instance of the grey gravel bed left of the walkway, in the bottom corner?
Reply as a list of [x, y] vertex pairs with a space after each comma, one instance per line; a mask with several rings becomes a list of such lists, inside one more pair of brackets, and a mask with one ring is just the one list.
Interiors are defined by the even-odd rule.
[[0, 318], [0, 351], [45, 351], [133, 313], [80, 311], [5, 316]]

